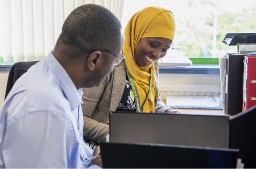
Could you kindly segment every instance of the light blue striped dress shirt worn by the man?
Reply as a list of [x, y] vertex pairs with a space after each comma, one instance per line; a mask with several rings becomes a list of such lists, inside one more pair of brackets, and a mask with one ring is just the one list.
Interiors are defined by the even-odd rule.
[[0, 168], [98, 167], [84, 160], [82, 90], [52, 52], [19, 78], [0, 114]]

